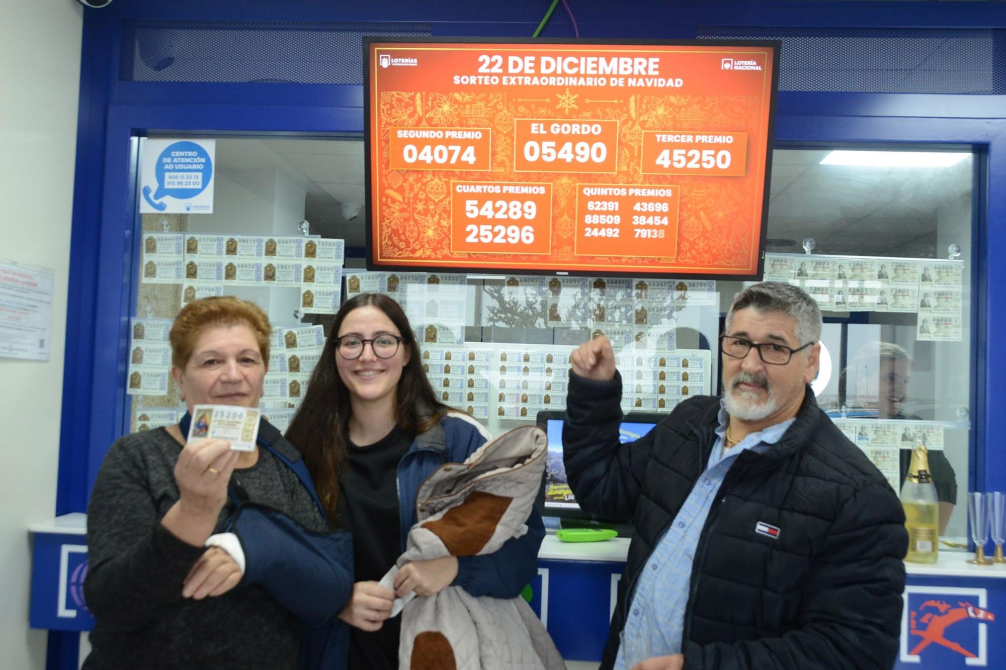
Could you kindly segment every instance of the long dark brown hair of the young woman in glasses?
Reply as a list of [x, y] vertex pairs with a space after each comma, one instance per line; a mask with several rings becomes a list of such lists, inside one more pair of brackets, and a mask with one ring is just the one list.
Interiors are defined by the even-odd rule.
[[380, 293], [363, 293], [343, 303], [311, 375], [307, 394], [287, 429], [287, 440], [304, 456], [318, 496], [333, 523], [339, 504], [339, 476], [346, 460], [349, 416], [352, 413], [349, 390], [336, 367], [335, 357], [338, 354], [335, 344], [342, 322], [349, 313], [366, 306], [376, 307], [391, 320], [401, 333], [401, 345], [409, 354], [395, 389], [395, 422], [402, 432], [414, 438], [430, 430], [450, 409], [437, 398], [423, 371], [420, 347], [401, 306]]

